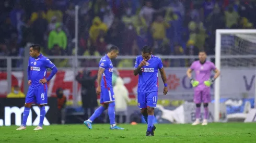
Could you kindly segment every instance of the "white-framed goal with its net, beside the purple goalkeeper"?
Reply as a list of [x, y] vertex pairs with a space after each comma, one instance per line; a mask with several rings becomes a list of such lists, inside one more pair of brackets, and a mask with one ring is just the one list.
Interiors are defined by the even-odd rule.
[[256, 30], [217, 30], [215, 46], [215, 122], [221, 121], [220, 102], [228, 120], [243, 120], [254, 107]]

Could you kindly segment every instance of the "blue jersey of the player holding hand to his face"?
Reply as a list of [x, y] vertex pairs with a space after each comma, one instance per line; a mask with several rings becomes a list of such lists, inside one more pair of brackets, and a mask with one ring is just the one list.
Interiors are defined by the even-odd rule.
[[[142, 56], [136, 58], [134, 69], [143, 61]], [[138, 93], [150, 93], [158, 91], [158, 69], [163, 68], [159, 57], [151, 56], [146, 66], [141, 68], [142, 73], [138, 76]]]

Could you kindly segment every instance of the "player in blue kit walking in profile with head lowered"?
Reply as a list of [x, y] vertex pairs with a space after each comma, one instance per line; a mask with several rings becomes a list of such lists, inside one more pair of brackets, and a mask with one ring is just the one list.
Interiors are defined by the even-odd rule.
[[118, 54], [118, 47], [112, 46], [110, 47], [108, 54], [100, 59], [97, 79], [98, 87], [96, 92], [97, 94], [100, 94], [100, 103], [102, 106], [96, 109], [94, 114], [92, 114], [88, 120], [84, 121], [84, 125], [89, 129], [92, 129], [91, 123], [106, 109], [108, 109], [110, 129], [124, 129], [115, 125], [115, 103], [112, 87], [113, 64], [111, 59], [117, 58]]

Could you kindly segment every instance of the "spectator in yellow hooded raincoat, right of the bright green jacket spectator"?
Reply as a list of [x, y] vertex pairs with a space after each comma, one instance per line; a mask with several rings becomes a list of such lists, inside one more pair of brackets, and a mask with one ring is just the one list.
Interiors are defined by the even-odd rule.
[[93, 43], [96, 42], [97, 37], [100, 34], [100, 30], [106, 33], [108, 30], [108, 26], [105, 23], [103, 23], [99, 17], [95, 17], [94, 20], [92, 21], [92, 25], [89, 30], [89, 35]]

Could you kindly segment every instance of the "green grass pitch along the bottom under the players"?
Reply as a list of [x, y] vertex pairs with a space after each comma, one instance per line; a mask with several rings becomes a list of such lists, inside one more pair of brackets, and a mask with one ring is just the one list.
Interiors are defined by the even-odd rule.
[[155, 136], [145, 136], [146, 124], [122, 124], [124, 131], [111, 131], [108, 124], [94, 124], [92, 129], [82, 125], [43, 126], [33, 131], [16, 131], [17, 126], [1, 126], [0, 142], [256, 142], [255, 123], [156, 124]]

